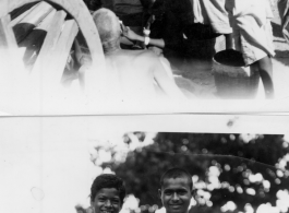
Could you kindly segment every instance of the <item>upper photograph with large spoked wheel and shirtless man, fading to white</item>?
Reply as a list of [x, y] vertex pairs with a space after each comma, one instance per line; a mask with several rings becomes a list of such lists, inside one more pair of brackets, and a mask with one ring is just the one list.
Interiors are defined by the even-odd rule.
[[0, 115], [286, 114], [289, 0], [2, 0]]

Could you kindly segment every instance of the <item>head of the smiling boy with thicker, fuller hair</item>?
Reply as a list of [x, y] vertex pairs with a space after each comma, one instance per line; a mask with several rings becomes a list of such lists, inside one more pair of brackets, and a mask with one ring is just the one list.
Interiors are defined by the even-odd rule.
[[95, 213], [119, 213], [124, 197], [124, 184], [116, 175], [97, 176], [91, 188], [91, 205]]

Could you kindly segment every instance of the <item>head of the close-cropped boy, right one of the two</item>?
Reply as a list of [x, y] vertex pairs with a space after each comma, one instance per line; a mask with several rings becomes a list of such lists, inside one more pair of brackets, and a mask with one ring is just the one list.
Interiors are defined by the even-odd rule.
[[167, 213], [186, 213], [192, 198], [192, 177], [182, 168], [171, 168], [160, 178], [159, 197]]

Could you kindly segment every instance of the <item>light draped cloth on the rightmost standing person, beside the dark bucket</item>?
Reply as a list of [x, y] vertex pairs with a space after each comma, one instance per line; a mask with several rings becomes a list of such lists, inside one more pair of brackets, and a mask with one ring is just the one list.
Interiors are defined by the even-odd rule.
[[233, 48], [243, 54], [246, 66], [275, 56], [270, 0], [226, 0], [233, 28]]

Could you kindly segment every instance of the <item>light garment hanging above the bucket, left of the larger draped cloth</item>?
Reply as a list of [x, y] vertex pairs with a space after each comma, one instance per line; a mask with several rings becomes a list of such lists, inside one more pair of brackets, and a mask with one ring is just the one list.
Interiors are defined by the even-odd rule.
[[215, 33], [232, 33], [225, 2], [226, 0], [191, 0], [194, 22], [210, 25]]

